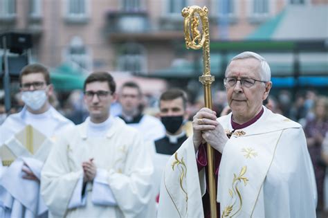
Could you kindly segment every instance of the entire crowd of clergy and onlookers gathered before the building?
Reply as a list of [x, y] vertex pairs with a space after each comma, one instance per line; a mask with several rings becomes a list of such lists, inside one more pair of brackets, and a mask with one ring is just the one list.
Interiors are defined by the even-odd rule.
[[210, 217], [206, 143], [218, 217], [323, 215], [328, 98], [271, 95], [256, 53], [233, 57], [212, 110], [172, 88], [147, 114], [143, 87], [107, 72], [62, 108], [42, 64], [19, 84], [22, 109], [0, 120], [0, 217]]

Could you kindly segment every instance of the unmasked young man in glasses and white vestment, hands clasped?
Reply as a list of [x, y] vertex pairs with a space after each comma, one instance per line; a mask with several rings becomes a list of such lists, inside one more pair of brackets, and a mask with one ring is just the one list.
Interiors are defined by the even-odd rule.
[[84, 82], [89, 118], [62, 134], [42, 170], [41, 194], [54, 216], [155, 215], [149, 213], [154, 206], [149, 149], [136, 129], [110, 116], [115, 91], [107, 72], [91, 73]]

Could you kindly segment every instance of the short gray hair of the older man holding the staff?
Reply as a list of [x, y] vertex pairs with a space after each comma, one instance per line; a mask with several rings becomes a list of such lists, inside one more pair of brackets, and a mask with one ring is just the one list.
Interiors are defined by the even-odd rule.
[[[233, 60], [246, 59], [246, 58], [255, 58], [256, 60], [259, 60], [259, 63], [261, 64], [261, 72], [259, 72], [259, 76], [261, 77], [261, 80], [267, 82], [271, 80], [271, 70], [270, 70], [270, 66], [268, 66], [268, 62], [266, 62], [264, 57], [262, 57], [261, 55], [251, 51], [244, 51], [243, 53], [236, 55], [235, 57], [233, 57], [232, 60], [230, 60], [228, 66]], [[227, 74], [228, 66], [226, 68], [225, 75]]]

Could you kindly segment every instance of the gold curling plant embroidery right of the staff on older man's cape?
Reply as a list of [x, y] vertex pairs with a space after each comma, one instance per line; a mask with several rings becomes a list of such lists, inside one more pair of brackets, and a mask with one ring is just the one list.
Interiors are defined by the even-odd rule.
[[[229, 194], [231, 197], [231, 201], [233, 201], [232, 204], [226, 206], [224, 208], [224, 211], [222, 212], [221, 218], [223, 217], [233, 217], [239, 212], [239, 210], [242, 209], [243, 201], [242, 201], [242, 194], [240, 194], [239, 189], [238, 189], [238, 183], [241, 183], [242, 181], [244, 182], [244, 185], [247, 185], [248, 179], [244, 177], [244, 174], [247, 171], [247, 167], [244, 166], [242, 167], [242, 170], [239, 172], [239, 176], [236, 176], [236, 174], [233, 174], [233, 184], [231, 185], [232, 189], [229, 188]], [[239, 199], [239, 207], [235, 208], [236, 203], [237, 203], [237, 198]], [[235, 210], [234, 210], [235, 209]]]

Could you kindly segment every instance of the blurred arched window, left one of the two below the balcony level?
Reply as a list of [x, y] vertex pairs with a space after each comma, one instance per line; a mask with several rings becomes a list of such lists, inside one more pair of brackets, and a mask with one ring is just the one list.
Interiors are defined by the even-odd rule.
[[75, 36], [71, 39], [69, 47], [66, 48], [67, 62], [71, 62], [86, 71], [91, 70], [91, 55], [89, 49], [84, 45], [81, 37]]

